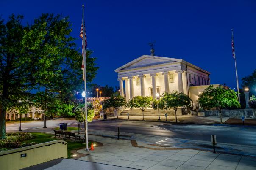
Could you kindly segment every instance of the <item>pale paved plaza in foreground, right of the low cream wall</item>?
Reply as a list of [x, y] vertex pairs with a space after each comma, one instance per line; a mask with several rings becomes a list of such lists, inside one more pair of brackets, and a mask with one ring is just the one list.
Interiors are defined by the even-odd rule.
[[[208, 151], [193, 149], [173, 149], [150, 146], [138, 148], [131, 145], [130, 140], [117, 140], [89, 135], [90, 140], [103, 143], [94, 151], [78, 150], [81, 154], [89, 154], [78, 158], [89, 162], [137, 168], [142, 170], [256, 170], [256, 157], [230, 154], [213, 154]], [[161, 149], [161, 150], [158, 150]]]

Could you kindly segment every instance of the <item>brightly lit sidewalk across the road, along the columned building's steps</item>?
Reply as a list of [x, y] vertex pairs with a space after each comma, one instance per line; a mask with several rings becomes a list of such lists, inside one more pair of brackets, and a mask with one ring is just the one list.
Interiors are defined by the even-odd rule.
[[[108, 119], [117, 119], [116, 116], [108, 117]], [[128, 120], [128, 116], [118, 116], [120, 120]], [[165, 116], [160, 116], [161, 121], [165, 122]], [[229, 118], [222, 118], [223, 123]], [[98, 119], [100, 120], [100, 119]], [[129, 120], [140, 120], [142, 116], [129, 116]], [[144, 116], [145, 121], [158, 121], [158, 116]], [[219, 117], [206, 117], [206, 116], [177, 116], [178, 123], [194, 123], [194, 124], [220, 124]], [[168, 122], [175, 122], [175, 116], [167, 116]]]

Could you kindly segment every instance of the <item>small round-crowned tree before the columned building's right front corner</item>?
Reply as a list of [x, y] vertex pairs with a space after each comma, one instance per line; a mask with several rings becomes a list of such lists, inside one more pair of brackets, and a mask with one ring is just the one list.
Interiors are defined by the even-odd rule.
[[177, 110], [180, 107], [192, 107], [192, 99], [188, 95], [173, 91], [171, 93], [165, 92], [161, 95], [159, 100], [159, 108], [161, 109], [170, 109], [172, 108], [175, 111], [175, 121], [177, 122]]

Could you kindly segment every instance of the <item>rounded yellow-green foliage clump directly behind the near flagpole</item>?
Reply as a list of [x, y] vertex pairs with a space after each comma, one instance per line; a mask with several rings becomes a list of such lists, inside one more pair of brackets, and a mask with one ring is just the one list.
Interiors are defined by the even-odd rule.
[[[85, 121], [85, 107], [84, 104], [78, 104], [75, 109], [75, 120], [82, 123]], [[93, 108], [93, 105], [91, 103], [87, 103], [87, 121], [92, 122], [93, 118], [95, 116], [95, 111]]]

